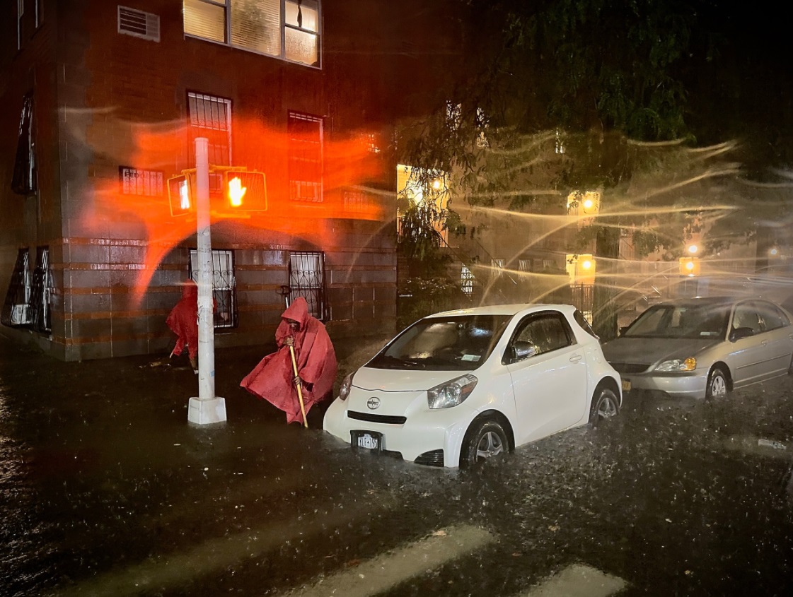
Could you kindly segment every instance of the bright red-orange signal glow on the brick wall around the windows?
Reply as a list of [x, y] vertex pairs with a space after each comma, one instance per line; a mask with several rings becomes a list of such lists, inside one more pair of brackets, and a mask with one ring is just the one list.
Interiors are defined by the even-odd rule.
[[[284, 127], [285, 128], [285, 127]], [[194, 213], [174, 217], [170, 213], [167, 179], [182, 169], [195, 168], [193, 139], [200, 131], [184, 125], [133, 125], [134, 150], [119, 158], [135, 169], [163, 173], [162, 195], [125, 194], [117, 179], [98, 184], [94, 201], [86, 201], [81, 221], [86, 233], [96, 238], [141, 238], [147, 243], [146, 260], [136, 279], [134, 293], [140, 304], [151, 276], [163, 258], [186, 238], [196, 234]], [[232, 245], [264, 245], [267, 237], [283, 239], [285, 234], [304, 238], [313, 245], [325, 246], [332, 238], [333, 219], [386, 221], [393, 218], [394, 203], [382, 187], [386, 170], [379, 154], [371, 150], [370, 139], [358, 135], [347, 141], [324, 141], [321, 201], [290, 199], [289, 138], [285, 131], [274, 131], [261, 122], [236, 118], [232, 129], [232, 165], [266, 175], [267, 210], [234, 211], [224, 200], [211, 200], [211, 222], [233, 222], [224, 234], [234, 238]], [[94, 150], [101, 151], [101, 147]], [[296, 173], [295, 165], [292, 174]], [[144, 230], [143, 230], [144, 229]], [[119, 230], [130, 230], [118, 234]], [[274, 234], [268, 234], [272, 232]], [[213, 245], [216, 245], [213, 227]], [[279, 241], [280, 242], [280, 241]]]

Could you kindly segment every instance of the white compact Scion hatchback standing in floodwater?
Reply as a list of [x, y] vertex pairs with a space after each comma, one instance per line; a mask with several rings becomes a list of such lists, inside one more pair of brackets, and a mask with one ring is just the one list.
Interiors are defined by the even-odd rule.
[[324, 428], [355, 448], [456, 467], [621, 405], [619, 374], [574, 306], [486, 306], [405, 329], [344, 379]]

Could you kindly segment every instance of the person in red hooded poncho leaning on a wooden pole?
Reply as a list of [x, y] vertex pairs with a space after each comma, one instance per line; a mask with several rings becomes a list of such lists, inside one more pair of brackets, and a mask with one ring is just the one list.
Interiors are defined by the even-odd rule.
[[[289, 354], [289, 338], [297, 359], [297, 378]], [[275, 341], [278, 351], [264, 357], [239, 385], [282, 409], [287, 423], [302, 424], [296, 385], [301, 385], [303, 405], [308, 413], [312, 405], [333, 390], [336, 353], [325, 326], [308, 314], [308, 303], [303, 297], [296, 298], [282, 314]]]

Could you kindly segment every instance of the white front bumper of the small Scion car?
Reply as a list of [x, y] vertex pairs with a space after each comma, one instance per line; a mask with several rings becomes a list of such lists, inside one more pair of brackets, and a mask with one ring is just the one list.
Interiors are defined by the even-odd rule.
[[[399, 452], [410, 462], [426, 462], [427, 454], [443, 451], [443, 466], [454, 468], [460, 464], [462, 439], [469, 424], [477, 415], [465, 403], [450, 409], [427, 409], [412, 413], [403, 424], [375, 423], [351, 419], [347, 416], [347, 401], [336, 398], [325, 413], [324, 430], [351, 445], [352, 431], [382, 434], [382, 449]], [[421, 457], [421, 458], [419, 458]]]

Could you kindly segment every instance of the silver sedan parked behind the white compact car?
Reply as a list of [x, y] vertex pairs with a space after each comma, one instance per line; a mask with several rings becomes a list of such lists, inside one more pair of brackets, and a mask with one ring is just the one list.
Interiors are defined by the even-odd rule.
[[650, 307], [603, 355], [623, 391], [719, 397], [791, 370], [793, 325], [762, 298], [684, 298]]

